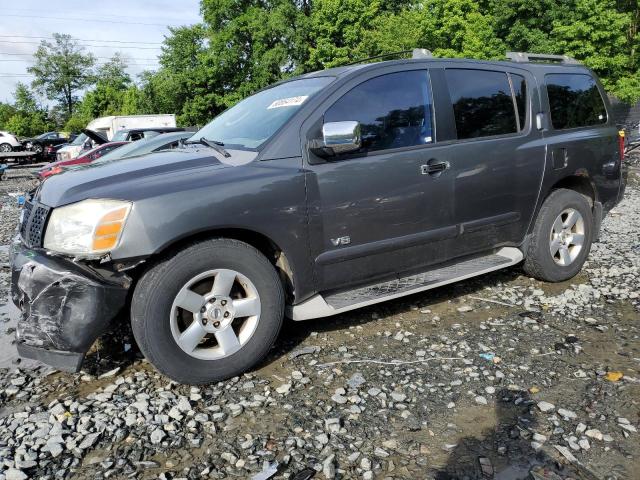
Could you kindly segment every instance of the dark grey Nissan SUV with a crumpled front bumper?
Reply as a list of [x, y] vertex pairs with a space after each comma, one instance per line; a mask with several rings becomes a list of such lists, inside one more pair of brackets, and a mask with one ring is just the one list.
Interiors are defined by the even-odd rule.
[[285, 314], [518, 263], [572, 278], [624, 194], [618, 130], [589, 69], [510, 58], [306, 74], [181, 148], [51, 177], [12, 247], [18, 351], [77, 371], [129, 308], [146, 358], [201, 384], [260, 362]]

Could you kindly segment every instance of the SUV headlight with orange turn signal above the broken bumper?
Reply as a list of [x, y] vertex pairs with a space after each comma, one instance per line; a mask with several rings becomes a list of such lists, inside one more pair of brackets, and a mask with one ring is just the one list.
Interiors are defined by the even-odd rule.
[[54, 208], [44, 248], [70, 255], [109, 252], [118, 245], [130, 210], [130, 202], [94, 199]]

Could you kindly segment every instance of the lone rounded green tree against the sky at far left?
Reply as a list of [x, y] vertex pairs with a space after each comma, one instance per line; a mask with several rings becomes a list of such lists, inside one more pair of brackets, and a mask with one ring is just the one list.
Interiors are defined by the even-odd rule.
[[70, 35], [53, 34], [53, 42], [43, 40], [27, 70], [35, 76], [32, 86], [49, 100], [73, 115], [78, 92], [94, 82], [95, 58], [85, 53]]

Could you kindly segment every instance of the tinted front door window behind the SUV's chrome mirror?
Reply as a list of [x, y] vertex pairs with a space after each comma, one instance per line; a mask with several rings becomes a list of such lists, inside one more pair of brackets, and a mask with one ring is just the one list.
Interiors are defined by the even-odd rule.
[[431, 143], [431, 110], [427, 72], [414, 70], [361, 83], [327, 110], [324, 121], [356, 120], [363, 150], [385, 150]]

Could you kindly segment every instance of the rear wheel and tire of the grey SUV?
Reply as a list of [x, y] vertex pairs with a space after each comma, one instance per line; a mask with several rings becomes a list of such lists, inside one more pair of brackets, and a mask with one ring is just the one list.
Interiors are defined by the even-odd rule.
[[569, 280], [582, 269], [592, 239], [593, 213], [587, 197], [574, 190], [554, 190], [536, 218], [524, 270], [546, 282]]

